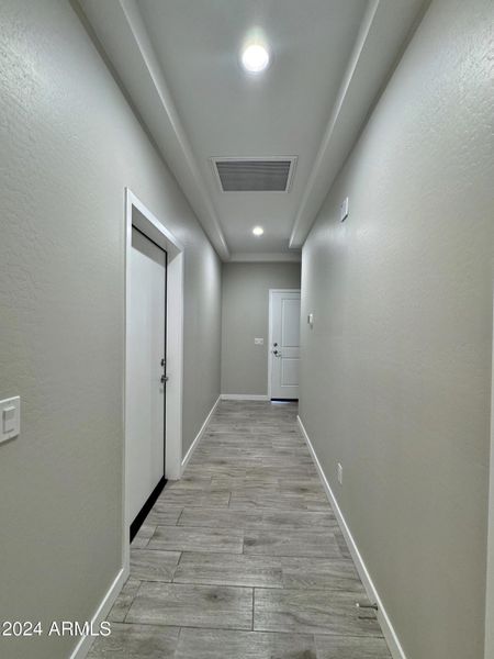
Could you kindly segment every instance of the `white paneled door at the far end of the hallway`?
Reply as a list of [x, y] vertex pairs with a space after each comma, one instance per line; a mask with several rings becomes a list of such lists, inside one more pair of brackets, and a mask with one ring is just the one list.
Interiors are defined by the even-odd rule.
[[271, 399], [299, 398], [300, 291], [270, 291]]

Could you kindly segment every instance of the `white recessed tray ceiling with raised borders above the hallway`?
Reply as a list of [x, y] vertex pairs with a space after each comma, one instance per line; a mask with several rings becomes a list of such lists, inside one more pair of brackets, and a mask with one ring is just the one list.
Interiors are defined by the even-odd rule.
[[[80, 0], [224, 259], [296, 259], [422, 0]], [[273, 54], [246, 75], [252, 29]], [[297, 156], [289, 192], [221, 192], [211, 157]], [[255, 237], [255, 225], [265, 235]], [[295, 250], [295, 252], [294, 252]]]

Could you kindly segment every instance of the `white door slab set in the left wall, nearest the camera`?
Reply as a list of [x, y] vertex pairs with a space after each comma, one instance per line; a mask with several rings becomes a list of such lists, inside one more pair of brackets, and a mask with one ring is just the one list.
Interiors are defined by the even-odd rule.
[[126, 496], [130, 522], [165, 473], [166, 252], [132, 230]]

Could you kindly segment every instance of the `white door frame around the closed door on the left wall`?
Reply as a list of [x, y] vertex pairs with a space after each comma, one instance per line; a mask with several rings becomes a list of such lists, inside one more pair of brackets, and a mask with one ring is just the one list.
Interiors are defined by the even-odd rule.
[[126, 510], [125, 454], [127, 445], [127, 391], [128, 391], [128, 290], [131, 278], [132, 227], [135, 226], [168, 255], [167, 261], [167, 375], [166, 386], [166, 451], [165, 477], [178, 480], [182, 460], [182, 381], [183, 381], [183, 246], [173, 234], [153, 215], [144, 203], [125, 188], [125, 364], [124, 364], [124, 451], [123, 451], [123, 567], [125, 577], [130, 571], [130, 520]]

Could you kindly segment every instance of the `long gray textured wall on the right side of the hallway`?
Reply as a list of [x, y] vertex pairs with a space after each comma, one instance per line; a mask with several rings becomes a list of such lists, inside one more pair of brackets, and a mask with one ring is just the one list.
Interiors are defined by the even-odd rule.
[[483, 657], [493, 20], [433, 1], [303, 248], [301, 416], [407, 659]]

